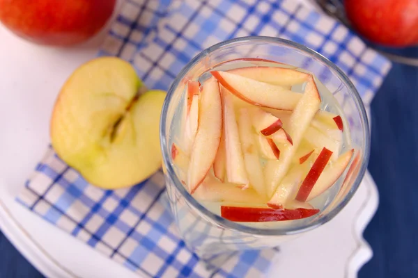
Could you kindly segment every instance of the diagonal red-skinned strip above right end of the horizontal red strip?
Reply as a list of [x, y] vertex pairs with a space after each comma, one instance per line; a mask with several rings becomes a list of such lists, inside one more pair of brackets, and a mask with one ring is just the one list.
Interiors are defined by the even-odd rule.
[[314, 188], [316, 181], [318, 181], [320, 175], [325, 169], [325, 166], [327, 165], [328, 161], [330, 161], [331, 155], [332, 152], [324, 147], [318, 158], [316, 158], [314, 165], [312, 165], [311, 170], [309, 170], [307, 177], [305, 177], [302, 181], [302, 185], [300, 186], [296, 195], [297, 201], [307, 201], [307, 198], [309, 197], [312, 188]]

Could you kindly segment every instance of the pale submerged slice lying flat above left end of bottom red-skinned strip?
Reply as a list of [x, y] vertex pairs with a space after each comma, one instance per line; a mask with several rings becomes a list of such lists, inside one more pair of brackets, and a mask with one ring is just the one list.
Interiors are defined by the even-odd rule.
[[222, 183], [210, 176], [193, 193], [193, 197], [206, 202], [231, 202], [242, 204], [265, 204], [265, 198], [256, 193], [253, 188], [242, 190], [234, 183]]

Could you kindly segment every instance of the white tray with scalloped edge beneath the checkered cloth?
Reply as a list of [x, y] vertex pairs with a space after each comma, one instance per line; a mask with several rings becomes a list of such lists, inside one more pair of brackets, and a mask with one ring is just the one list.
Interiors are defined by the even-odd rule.
[[[24, 42], [0, 26], [0, 229], [47, 277], [137, 277], [15, 202], [49, 142], [49, 117], [59, 88], [95, 56], [104, 32], [82, 47], [52, 49]], [[366, 174], [334, 220], [282, 245], [272, 277], [356, 277], [372, 256], [362, 232], [377, 206], [376, 185]]]

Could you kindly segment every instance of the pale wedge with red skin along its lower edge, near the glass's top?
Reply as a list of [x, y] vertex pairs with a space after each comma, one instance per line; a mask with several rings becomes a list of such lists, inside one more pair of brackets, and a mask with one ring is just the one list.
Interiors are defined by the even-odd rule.
[[211, 73], [233, 95], [257, 106], [293, 110], [302, 97], [302, 94], [278, 85], [248, 79], [238, 74], [219, 71]]

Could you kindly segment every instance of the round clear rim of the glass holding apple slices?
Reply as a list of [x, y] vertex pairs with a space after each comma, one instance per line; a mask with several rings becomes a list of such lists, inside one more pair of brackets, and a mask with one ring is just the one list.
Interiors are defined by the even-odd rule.
[[[212, 213], [209, 211], [205, 206], [200, 204], [190, 193], [186, 190], [186, 188], [183, 186], [181, 181], [178, 179], [178, 176], [176, 172], [173, 169], [173, 166], [170, 163], [170, 149], [167, 144], [166, 140], [166, 120], [167, 120], [167, 112], [169, 111], [169, 104], [171, 103], [171, 99], [173, 97], [173, 93], [176, 91], [176, 88], [178, 88], [178, 85], [180, 81], [182, 81], [186, 74], [189, 72], [194, 65], [199, 63], [203, 58], [208, 56], [208, 54], [211, 54], [214, 51], [217, 51], [218, 49], [222, 47], [231, 46], [233, 44], [237, 44], [239, 42], [265, 42], [267, 44], [279, 44], [284, 45], [286, 47], [291, 47], [293, 49], [297, 49], [298, 51], [302, 51], [302, 53], [307, 54], [308, 56], [312, 58], [316, 58], [322, 63], [325, 63], [327, 67], [330, 67], [334, 72], [336, 72], [337, 76], [343, 81], [343, 83], [347, 86], [348, 91], [350, 92], [350, 95], [353, 96], [353, 99], [355, 101], [355, 105], [359, 111], [360, 117], [362, 120], [364, 120], [362, 123], [362, 129], [364, 132], [364, 152], [362, 152], [362, 165], [359, 169], [359, 172], [357, 174], [357, 177], [355, 181], [353, 181], [353, 186], [350, 188], [350, 191], [347, 193], [346, 197], [338, 204], [336, 205], [330, 212], [328, 212], [326, 215], [323, 215], [323, 217], [318, 218], [317, 220], [314, 220], [312, 222], [309, 222], [307, 224], [301, 225], [300, 227], [283, 227], [283, 228], [277, 228], [277, 229], [268, 229], [263, 227], [249, 227], [245, 224], [240, 224], [240, 222], [233, 222], [230, 220], [226, 220], [225, 218], [222, 218], [222, 216], [217, 215], [215, 213]], [[201, 51], [199, 54], [194, 56], [192, 60], [183, 67], [183, 69], [180, 71], [180, 73], [176, 76], [176, 79], [174, 79], [173, 83], [171, 83], [171, 86], [167, 92], [167, 97], [164, 100], [164, 104], [162, 107], [161, 112], [161, 118], [160, 118], [160, 147], [162, 149], [162, 162], [164, 163], [164, 166], [166, 167], [167, 174], [171, 177], [173, 180], [174, 186], [176, 186], [177, 190], [180, 192], [180, 194], [186, 199], [186, 201], [191, 204], [196, 210], [199, 211], [199, 213], [205, 215], [206, 218], [209, 218], [212, 222], [215, 222], [221, 227], [224, 227], [226, 229], [233, 229], [236, 231], [241, 231], [243, 233], [247, 234], [254, 234], [258, 236], [281, 236], [281, 235], [291, 235], [291, 234], [300, 234], [304, 231], [309, 231], [311, 229], [315, 229], [316, 227], [319, 227], [326, 222], [332, 220], [345, 206], [348, 204], [350, 199], [353, 197], [355, 192], [357, 191], [357, 188], [359, 188], [360, 183], [362, 182], [362, 179], [364, 177], [364, 174], [366, 172], [367, 165], [369, 163], [369, 156], [370, 156], [370, 129], [369, 129], [369, 120], [367, 118], [366, 109], [364, 108], [364, 104], [362, 101], [362, 98], [359, 95], [359, 92], [357, 92], [357, 89], [355, 88], [355, 85], [350, 81], [348, 76], [339, 69], [334, 63], [332, 63], [328, 58], [325, 58], [322, 54], [319, 54], [318, 52], [309, 49], [308, 47], [305, 47], [302, 44], [298, 44], [297, 42], [292, 42], [290, 40], [285, 40], [281, 38], [274, 38], [274, 37], [266, 37], [266, 36], [247, 36], [247, 37], [240, 37], [240, 38], [234, 38], [231, 40], [225, 40], [223, 42], [219, 42], [217, 44], [212, 45], [211, 47], [208, 47], [207, 49]]]

